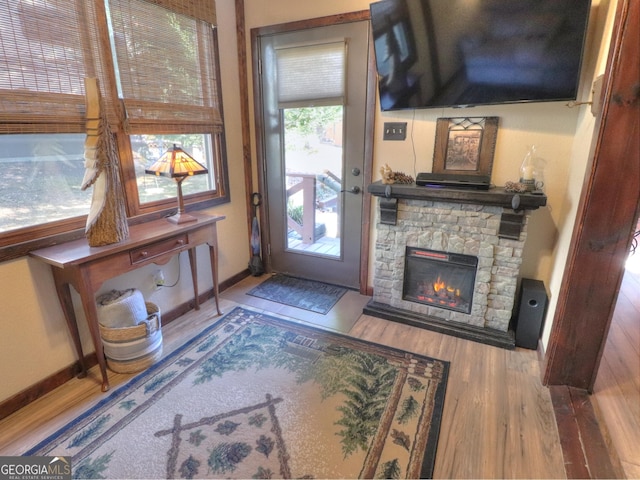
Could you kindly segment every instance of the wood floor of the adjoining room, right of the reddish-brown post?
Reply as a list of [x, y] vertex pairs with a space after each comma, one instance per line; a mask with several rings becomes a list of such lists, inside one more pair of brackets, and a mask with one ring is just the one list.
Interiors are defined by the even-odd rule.
[[640, 478], [640, 250], [629, 258], [593, 392], [627, 478]]

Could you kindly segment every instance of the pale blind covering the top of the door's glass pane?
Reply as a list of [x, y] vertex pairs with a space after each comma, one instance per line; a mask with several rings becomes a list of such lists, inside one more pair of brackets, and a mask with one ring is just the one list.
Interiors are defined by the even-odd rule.
[[279, 108], [345, 103], [344, 40], [276, 50]]

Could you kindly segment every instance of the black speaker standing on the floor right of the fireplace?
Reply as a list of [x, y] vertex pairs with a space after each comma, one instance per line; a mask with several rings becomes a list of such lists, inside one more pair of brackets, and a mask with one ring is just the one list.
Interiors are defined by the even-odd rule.
[[547, 312], [547, 290], [540, 280], [523, 278], [520, 284], [520, 304], [515, 323], [516, 346], [538, 349], [544, 317]]

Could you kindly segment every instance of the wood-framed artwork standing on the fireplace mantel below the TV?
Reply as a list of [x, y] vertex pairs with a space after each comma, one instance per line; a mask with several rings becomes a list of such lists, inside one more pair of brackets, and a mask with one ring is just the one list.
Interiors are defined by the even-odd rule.
[[439, 118], [433, 173], [491, 177], [498, 117]]

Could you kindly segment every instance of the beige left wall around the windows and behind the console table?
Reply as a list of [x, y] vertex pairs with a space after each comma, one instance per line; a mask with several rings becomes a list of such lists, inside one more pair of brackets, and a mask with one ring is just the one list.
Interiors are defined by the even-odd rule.
[[[246, 219], [245, 172], [242, 160], [240, 91], [236, 49], [235, 6], [233, 0], [218, 1], [223, 108], [226, 125], [227, 157], [231, 203], [211, 209], [225, 215], [218, 224], [220, 243], [219, 279], [224, 281], [247, 268], [249, 240]], [[198, 249], [200, 291], [212, 287], [206, 247]], [[189, 261], [186, 253], [162, 267], [166, 283], [180, 281], [174, 288], [152, 289], [151, 275], [157, 267], [148, 266], [112, 279], [100, 292], [112, 288], [139, 288], [145, 298], [161, 310], [171, 310], [193, 297]], [[179, 265], [179, 266], [178, 266]], [[73, 289], [72, 289], [73, 291]], [[31, 258], [0, 263], [0, 402], [71, 365], [76, 357], [62, 310], [55, 293], [48, 265]], [[79, 297], [74, 305], [85, 353], [93, 351]]]

